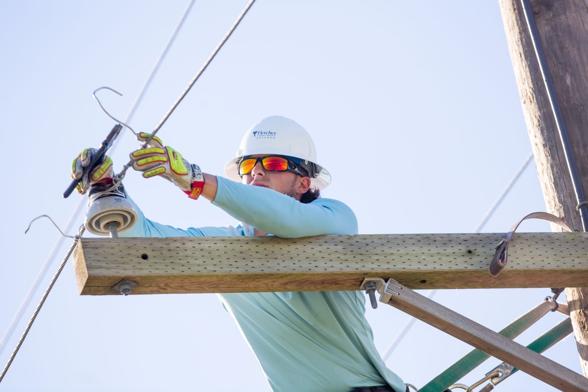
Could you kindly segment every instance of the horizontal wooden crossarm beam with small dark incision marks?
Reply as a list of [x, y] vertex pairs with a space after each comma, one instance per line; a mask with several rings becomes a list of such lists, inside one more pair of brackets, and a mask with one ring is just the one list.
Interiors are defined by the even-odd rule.
[[[588, 286], [588, 233], [517, 233], [499, 276], [502, 234], [82, 239], [81, 294], [358, 290], [366, 276], [410, 289]], [[124, 282], [121, 282], [126, 279]], [[120, 283], [120, 284], [119, 284]], [[114, 289], [113, 289], [114, 287]]]

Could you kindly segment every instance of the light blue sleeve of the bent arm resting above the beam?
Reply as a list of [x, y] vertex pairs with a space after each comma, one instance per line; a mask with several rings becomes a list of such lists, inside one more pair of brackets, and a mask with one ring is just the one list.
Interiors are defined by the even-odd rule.
[[263, 232], [284, 238], [358, 233], [355, 214], [338, 200], [319, 198], [305, 204], [272, 189], [217, 180], [213, 205]]

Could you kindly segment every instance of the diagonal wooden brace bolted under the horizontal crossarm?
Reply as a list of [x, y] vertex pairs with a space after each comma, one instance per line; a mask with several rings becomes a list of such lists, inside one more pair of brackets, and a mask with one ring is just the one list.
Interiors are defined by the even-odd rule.
[[465, 341], [499, 360], [565, 392], [588, 391], [588, 378], [537, 354], [519, 343], [487, 329], [475, 321], [447, 309], [433, 300], [407, 289], [393, 279], [366, 278], [374, 282], [380, 301], [410, 314], [425, 323]]

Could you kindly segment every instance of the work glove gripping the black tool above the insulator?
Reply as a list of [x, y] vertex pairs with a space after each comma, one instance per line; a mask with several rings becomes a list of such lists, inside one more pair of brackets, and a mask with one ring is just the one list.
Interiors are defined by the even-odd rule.
[[75, 190], [83, 195], [90, 187], [95, 185], [110, 185], [114, 172], [112, 169], [112, 159], [105, 155], [102, 162], [85, 175], [83, 169], [89, 165], [92, 157], [98, 152], [95, 148], [86, 148], [72, 162], [72, 179], [81, 179]]

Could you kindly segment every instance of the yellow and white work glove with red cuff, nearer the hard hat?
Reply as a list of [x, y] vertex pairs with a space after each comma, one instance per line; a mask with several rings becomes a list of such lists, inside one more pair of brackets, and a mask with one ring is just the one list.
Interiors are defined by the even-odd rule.
[[[145, 142], [149, 133], [138, 133], [137, 139]], [[143, 172], [143, 177], [160, 176], [171, 181], [191, 199], [198, 199], [204, 186], [202, 172], [198, 165], [191, 165], [182, 154], [163, 146], [161, 139], [153, 136], [148, 148], [135, 150], [131, 153], [133, 169]]]

